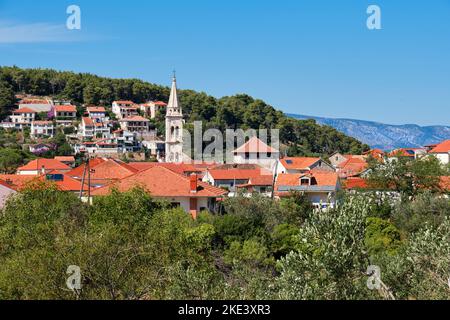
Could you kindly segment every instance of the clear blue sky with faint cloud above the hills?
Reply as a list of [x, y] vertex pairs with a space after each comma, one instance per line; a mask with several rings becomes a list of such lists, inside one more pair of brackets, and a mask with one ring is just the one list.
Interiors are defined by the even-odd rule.
[[0, 0], [0, 65], [164, 85], [175, 68], [289, 113], [450, 125], [450, 0]]

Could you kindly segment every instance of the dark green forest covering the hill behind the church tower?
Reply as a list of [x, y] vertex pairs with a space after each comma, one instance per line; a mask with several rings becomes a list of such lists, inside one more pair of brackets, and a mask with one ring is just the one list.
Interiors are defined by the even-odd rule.
[[[15, 93], [52, 96], [76, 104], [111, 105], [114, 100], [167, 101], [168, 87], [138, 79], [110, 79], [87, 73], [48, 69], [0, 67], [0, 118], [13, 107]], [[245, 94], [215, 98], [206, 93], [181, 90], [186, 122], [203, 121], [204, 128], [280, 129], [289, 155], [330, 155], [334, 151], [360, 154], [367, 145], [314, 120], [296, 120]], [[159, 119], [161, 121], [161, 119]], [[188, 126], [189, 128], [189, 126]]]

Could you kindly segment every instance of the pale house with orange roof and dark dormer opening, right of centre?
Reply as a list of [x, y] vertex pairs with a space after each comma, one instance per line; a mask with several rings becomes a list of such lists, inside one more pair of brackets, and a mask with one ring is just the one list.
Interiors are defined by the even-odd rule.
[[341, 183], [336, 172], [312, 170], [308, 173], [286, 173], [277, 176], [275, 195], [288, 197], [292, 192], [305, 194], [316, 209], [326, 210], [337, 205]]

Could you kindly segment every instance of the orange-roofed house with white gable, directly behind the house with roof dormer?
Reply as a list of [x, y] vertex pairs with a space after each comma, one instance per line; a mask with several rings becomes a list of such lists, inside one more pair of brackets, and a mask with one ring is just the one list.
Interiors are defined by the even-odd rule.
[[313, 169], [334, 172], [334, 168], [322, 160], [313, 157], [288, 157], [278, 161], [277, 174], [282, 173], [304, 173]]

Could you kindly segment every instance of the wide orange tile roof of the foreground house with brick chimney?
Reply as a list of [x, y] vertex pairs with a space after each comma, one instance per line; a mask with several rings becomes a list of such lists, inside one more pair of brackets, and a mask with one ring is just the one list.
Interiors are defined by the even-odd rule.
[[155, 197], [220, 197], [227, 193], [223, 189], [210, 186], [198, 181], [196, 193], [190, 189], [190, 178], [177, 174], [162, 166], [155, 166], [145, 171], [136, 173], [103, 188], [92, 192], [94, 196], [107, 195], [112, 188], [121, 192], [140, 186]]

